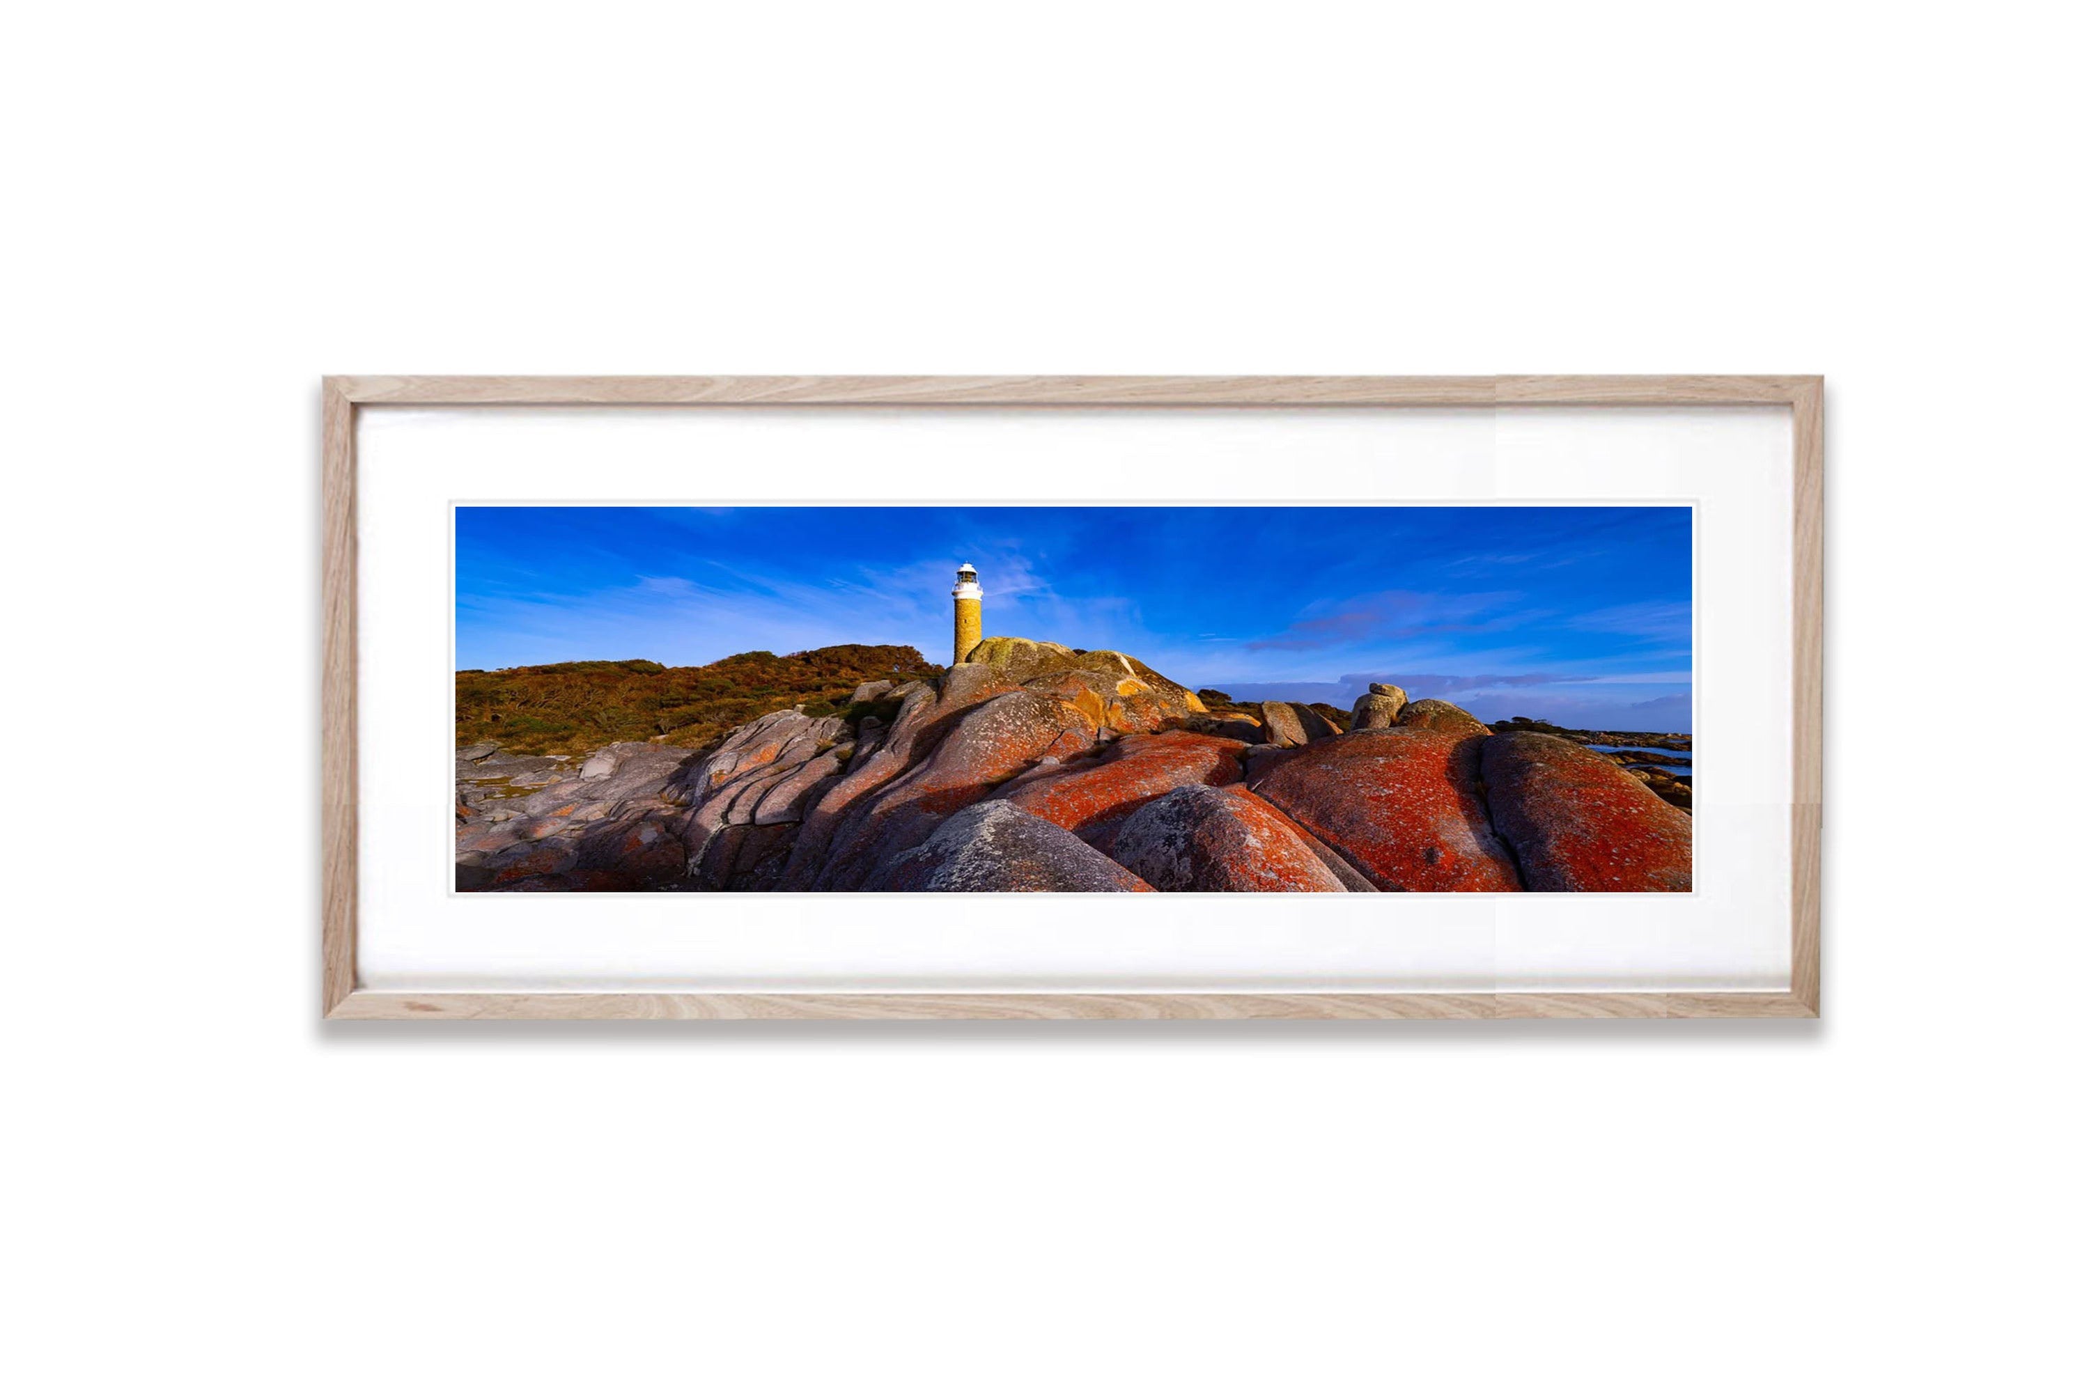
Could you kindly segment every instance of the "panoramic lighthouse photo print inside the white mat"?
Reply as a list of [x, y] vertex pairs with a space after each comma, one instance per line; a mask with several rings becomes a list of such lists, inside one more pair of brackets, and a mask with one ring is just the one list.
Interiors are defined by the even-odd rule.
[[1690, 889], [1688, 507], [455, 507], [460, 891]]

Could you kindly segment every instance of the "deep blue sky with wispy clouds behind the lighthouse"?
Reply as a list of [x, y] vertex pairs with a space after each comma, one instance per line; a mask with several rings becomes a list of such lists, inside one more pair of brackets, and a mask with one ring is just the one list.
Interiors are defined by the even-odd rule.
[[1688, 507], [460, 507], [457, 666], [986, 632], [1189, 687], [1690, 728]]

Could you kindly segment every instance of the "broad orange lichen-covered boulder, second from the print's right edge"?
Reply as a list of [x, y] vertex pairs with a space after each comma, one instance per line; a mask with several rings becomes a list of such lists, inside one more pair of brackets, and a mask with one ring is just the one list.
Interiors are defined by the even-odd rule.
[[1354, 730], [1264, 760], [1249, 787], [1379, 889], [1521, 889], [1479, 795], [1483, 739]]

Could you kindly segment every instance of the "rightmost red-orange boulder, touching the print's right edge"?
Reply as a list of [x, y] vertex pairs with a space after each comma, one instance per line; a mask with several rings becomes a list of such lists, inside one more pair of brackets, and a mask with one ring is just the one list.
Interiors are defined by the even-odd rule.
[[1496, 735], [1481, 741], [1481, 768], [1531, 889], [1690, 889], [1690, 814], [1604, 755], [1554, 735]]

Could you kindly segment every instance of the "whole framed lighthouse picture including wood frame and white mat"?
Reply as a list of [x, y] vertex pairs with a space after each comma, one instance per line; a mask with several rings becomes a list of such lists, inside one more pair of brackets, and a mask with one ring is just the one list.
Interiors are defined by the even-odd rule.
[[1820, 378], [322, 394], [328, 1018], [1820, 1014]]

